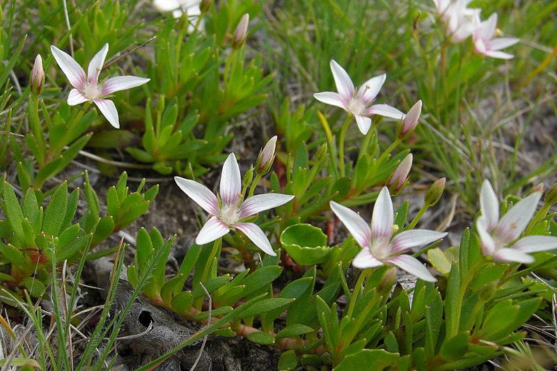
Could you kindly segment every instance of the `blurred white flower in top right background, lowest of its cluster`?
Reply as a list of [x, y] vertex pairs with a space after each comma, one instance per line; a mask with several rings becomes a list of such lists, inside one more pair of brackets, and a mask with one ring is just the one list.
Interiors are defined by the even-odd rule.
[[494, 38], [497, 27], [497, 13], [478, 24], [473, 32], [474, 50], [492, 58], [510, 59], [514, 56], [500, 50], [515, 45], [520, 39], [517, 38]]

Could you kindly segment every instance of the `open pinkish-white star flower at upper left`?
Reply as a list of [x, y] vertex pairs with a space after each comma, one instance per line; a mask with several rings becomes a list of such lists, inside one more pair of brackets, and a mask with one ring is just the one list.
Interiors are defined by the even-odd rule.
[[111, 100], [102, 99], [116, 91], [134, 88], [146, 84], [150, 79], [136, 76], [118, 76], [111, 77], [107, 81], [99, 82], [99, 74], [104, 65], [104, 58], [107, 58], [109, 45], [104, 44], [100, 52], [93, 56], [87, 69], [87, 74], [81, 66], [69, 54], [62, 52], [60, 49], [52, 45], [50, 47], [52, 55], [62, 72], [68, 77], [68, 81], [74, 87], [68, 95], [68, 104], [74, 106], [76, 104], [93, 101], [97, 105], [99, 111], [109, 120], [113, 127], [120, 127], [118, 120], [118, 111]]

